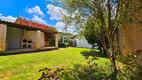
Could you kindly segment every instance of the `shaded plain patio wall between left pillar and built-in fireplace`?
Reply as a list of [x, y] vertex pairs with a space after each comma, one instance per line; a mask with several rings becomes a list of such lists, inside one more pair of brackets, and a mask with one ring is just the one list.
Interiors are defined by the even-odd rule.
[[22, 37], [23, 29], [8, 26], [6, 37], [7, 49], [20, 49]]

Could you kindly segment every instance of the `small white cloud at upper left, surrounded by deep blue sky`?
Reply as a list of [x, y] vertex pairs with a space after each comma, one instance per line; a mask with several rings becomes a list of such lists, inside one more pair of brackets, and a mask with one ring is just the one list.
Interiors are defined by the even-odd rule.
[[28, 8], [27, 9], [28, 13], [30, 14], [36, 14], [36, 15], [41, 15], [41, 16], [44, 16], [44, 13], [41, 11], [40, 7], [39, 6], [35, 6], [33, 8]]

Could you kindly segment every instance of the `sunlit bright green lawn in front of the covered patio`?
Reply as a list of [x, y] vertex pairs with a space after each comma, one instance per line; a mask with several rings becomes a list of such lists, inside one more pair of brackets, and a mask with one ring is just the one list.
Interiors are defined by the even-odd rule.
[[61, 50], [0, 56], [0, 80], [37, 80], [39, 69], [71, 66], [85, 63], [88, 56], [96, 58], [99, 66], [108, 67], [108, 58], [89, 52], [86, 48], [65, 48]]

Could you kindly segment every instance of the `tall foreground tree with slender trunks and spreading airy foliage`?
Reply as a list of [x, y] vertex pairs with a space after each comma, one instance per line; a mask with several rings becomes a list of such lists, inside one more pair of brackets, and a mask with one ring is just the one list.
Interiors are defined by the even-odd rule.
[[[77, 29], [84, 30], [87, 21], [95, 22], [95, 32], [101, 41], [103, 48], [110, 58], [113, 70], [117, 73], [116, 30], [123, 24], [136, 22], [136, 11], [141, 4], [140, 0], [60, 0], [63, 8], [68, 12], [63, 22], [67, 24], [76, 23]], [[107, 47], [108, 40], [109, 46]]]

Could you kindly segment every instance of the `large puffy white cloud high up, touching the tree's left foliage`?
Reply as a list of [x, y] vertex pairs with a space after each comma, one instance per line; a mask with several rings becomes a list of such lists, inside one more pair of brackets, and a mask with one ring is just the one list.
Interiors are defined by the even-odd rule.
[[61, 20], [63, 15], [68, 15], [66, 10], [61, 7], [54, 6], [52, 4], [48, 4], [47, 9], [47, 13], [51, 16], [51, 20]]

